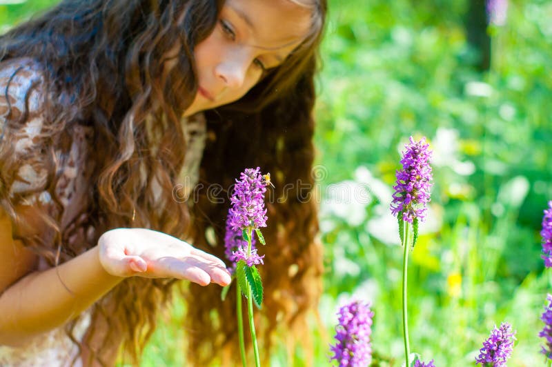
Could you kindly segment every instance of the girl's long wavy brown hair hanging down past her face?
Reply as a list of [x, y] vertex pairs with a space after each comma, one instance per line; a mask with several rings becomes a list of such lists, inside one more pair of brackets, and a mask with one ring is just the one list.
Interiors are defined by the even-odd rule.
[[[242, 99], [205, 112], [208, 141], [200, 168], [202, 184], [223, 187], [246, 167], [260, 166], [272, 174], [279, 200], [267, 204], [268, 245], [259, 250], [266, 255], [261, 268], [265, 300], [256, 315], [265, 357], [279, 328], [305, 335], [306, 315], [321, 292], [316, 206], [304, 190], [310, 192], [314, 184], [313, 80], [326, 0], [290, 1], [312, 8], [311, 34]], [[223, 0], [66, 0], [0, 37], [0, 61], [30, 57], [44, 70], [46, 128], [41, 137], [49, 145], [37, 155], [49, 162], [48, 188], [55, 188], [59, 178], [53, 151], [64, 129], [77, 123], [91, 126], [95, 144], [101, 146], [90, 158], [94, 170], [91, 204], [83, 208], [86, 219], [61, 228], [63, 207], [54, 195], [57, 210], [39, 213], [50, 235], [21, 238], [50, 266], [92, 248], [101, 233], [118, 227], [160, 230], [224, 257], [228, 197], [214, 201], [200, 190], [190, 209], [172, 196], [186, 154], [181, 116], [197, 92], [193, 50], [215, 27], [223, 5]], [[168, 57], [176, 44], [181, 51]], [[175, 58], [177, 63], [166, 70], [167, 61]], [[18, 165], [11, 158], [12, 133], [25, 115], [8, 115], [0, 146], [0, 201], [14, 222], [14, 237], [24, 224], [6, 188]], [[161, 199], [153, 195], [154, 185], [161, 186]], [[72, 233], [89, 228], [94, 233], [90, 240], [69, 248]], [[214, 241], [208, 243], [207, 232], [215, 233]], [[217, 286], [140, 277], [121, 282], [95, 305], [93, 317], [102, 315], [121, 327], [110, 328], [92, 355], [106, 348], [110, 333], [118, 333], [124, 356], [137, 363], [175, 284], [186, 299], [190, 362], [205, 365], [223, 356], [235, 360], [237, 329], [228, 321], [235, 319], [235, 292], [221, 302]], [[70, 335], [74, 324], [68, 326]], [[93, 333], [94, 324], [90, 328]]]

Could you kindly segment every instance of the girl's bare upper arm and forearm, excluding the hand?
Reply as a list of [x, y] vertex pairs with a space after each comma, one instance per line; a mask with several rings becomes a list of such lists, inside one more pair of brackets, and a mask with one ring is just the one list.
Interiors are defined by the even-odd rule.
[[65, 324], [124, 279], [103, 269], [98, 247], [32, 272], [36, 255], [11, 234], [10, 219], [0, 210], [0, 345], [20, 346]]

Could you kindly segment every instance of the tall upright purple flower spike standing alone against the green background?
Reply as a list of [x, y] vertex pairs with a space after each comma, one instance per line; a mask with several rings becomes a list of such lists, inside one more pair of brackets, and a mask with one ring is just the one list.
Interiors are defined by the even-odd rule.
[[393, 186], [393, 202], [391, 212], [399, 215], [402, 212], [402, 219], [412, 223], [415, 218], [423, 221], [425, 219], [426, 204], [430, 199], [429, 189], [433, 185], [431, 180], [431, 150], [426, 138], [414, 141], [410, 137], [410, 144], [402, 153], [402, 170], [397, 170], [397, 184]]

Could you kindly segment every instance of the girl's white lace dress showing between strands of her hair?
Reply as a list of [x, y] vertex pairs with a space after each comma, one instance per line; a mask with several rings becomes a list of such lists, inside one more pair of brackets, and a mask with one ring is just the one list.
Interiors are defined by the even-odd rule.
[[[49, 211], [56, 210], [52, 201], [53, 192], [50, 192], [52, 189], [46, 187], [48, 167], [43, 155], [37, 154], [48, 148], [48, 141], [41, 136], [44, 121], [41, 109], [43, 82], [41, 66], [32, 59], [0, 63], [0, 137], [6, 132], [4, 129], [8, 114], [11, 114], [12, 119], [24, 117], [21, 127], [10, 131], [15, 138], [14, 157], [20, 163], [17, 172], [12, 173], [13, 183], [6, 188], [10, 200], [18, 206], [18, 215], [32, 212], [25, 210], [25, 207], [43, 206]], [[188, 148], [180, 181], [189, 194], [199, 179], [199, 164], [206, 139], [206, 121], [202, 114], [198, 114], [183, 119], [182, 123]], [[63, 232], [70, 233], [63, 241], [70, 248], [74, 248], [71, 244], [89, 241], [93, 235], [79, 230], [68, 230], [86, 221], [88, 185], [93, 170], [89, 152], [94, 149], [93, 138], [92, 128], [70, 124], [66, 131], [61, 132], [54, 152], [61, 176], [53, 190], [63, 206], [61, 228]], [[26, 235], [24, 228], [21, 231], [17, 233], [18, 237]], [[46, 261], [41, 261], [38, 269], [44, 270], [48, 267]], [[90, 311], [81, 315], [73, 336], [81, 340], [88, 326]], [[0, 346], [0, 366], [68, 366], [77, 354], [77, 346], [66, 335], [64, 328], [60, 327], [36, 337], [23, 347]], [[77, 359], [76, 366], [80, 365], [81, 361]]]

